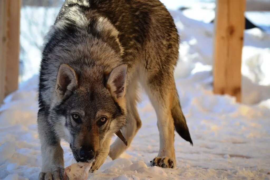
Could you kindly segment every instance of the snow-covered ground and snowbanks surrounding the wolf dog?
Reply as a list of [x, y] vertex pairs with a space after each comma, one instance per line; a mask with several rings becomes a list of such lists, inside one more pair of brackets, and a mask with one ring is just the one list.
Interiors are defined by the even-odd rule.
[[[180, 11], [171, 14], [182, 39], [176, 84], [194, 146], [176, 134], [177, 168], [150, 167], [159, 137], [154, 109], [142, 92], [142, 128], [121, 159], [107, 157], [89, 179], [270, 179], [270, 35], [260, 29], [245, 32], [243, 100], [255, 104], [239, 104], [233, 97], [212, 93], [213, 25], [188, 19]], [[0, 179], [38, 178], [36, 91], [34, 76], [0, 107]], [[62, 141], [62, 147], [65, 166], [75, 163], [67, 142]]]

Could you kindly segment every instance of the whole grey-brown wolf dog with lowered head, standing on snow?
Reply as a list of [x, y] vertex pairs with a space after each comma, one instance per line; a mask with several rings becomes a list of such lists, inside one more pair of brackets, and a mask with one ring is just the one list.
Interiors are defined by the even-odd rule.
[[[176, 167], [174, 129], [193, 144], [174, 81], [179, 36], [158, 0], [66, 0], [45, 38], [39, 77], [39, 179], [62, 179], [63, 149], [95, 172], [141, 127], [137, 89], [156, 111], [160, 147], [151, 166]], [[117, 140], [110, 145], [112, 136]]]

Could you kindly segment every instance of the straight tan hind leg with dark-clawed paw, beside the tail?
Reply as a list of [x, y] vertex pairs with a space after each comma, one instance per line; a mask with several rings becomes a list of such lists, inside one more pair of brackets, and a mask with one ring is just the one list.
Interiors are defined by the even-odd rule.
[[141, 84], [157, 114], [160, 149], [158, 156], [151, 162], [151, 166], [174, 168], [176, 166], [174, 153], [174, 121], [171, 115], [171, 100], [173, 98], [173, 74], [154, 74], [145, 72]]

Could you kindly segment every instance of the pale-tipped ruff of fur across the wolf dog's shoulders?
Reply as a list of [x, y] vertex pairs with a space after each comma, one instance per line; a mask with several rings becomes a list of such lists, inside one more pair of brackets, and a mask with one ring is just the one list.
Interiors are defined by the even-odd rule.
[[89, 1], [65, 1], [55, 21], [55, 26], [59, 28], [72, 26], [85, 35], [92, 35], [107, 43], [117, 54], [123, 54], [118, 37], [119, 32], [106, 17], [89, 4]]

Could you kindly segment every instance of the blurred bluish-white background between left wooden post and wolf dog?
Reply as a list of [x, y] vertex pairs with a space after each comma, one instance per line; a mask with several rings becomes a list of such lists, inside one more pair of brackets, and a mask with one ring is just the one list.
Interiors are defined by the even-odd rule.
[[44, 37], [64, 0], [22, 0], [19, 81], [37, 74]]

